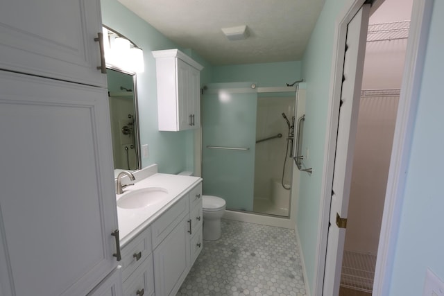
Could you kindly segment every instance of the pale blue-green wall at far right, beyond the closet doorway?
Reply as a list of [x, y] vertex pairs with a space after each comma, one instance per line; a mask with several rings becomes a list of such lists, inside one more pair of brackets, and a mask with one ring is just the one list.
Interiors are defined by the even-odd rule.
[[444, 280], [443, 15], [434, 1], [390, 295], [422, 295], [427, 268]]

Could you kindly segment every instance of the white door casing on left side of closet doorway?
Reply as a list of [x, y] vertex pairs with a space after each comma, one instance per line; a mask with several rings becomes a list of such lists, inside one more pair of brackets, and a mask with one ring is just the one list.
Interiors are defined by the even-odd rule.
[[328, 223], [330, 218], [330, 203], [332, 197], [332, 180], [334, 170], [334, 152], [336, 149], [336, 134], [338, 130], [339, 101], [341, 98], [342, 71], [345, 57], [345, 38], [347, 25], [364, 4], [364, 0], [355, 0], [336, 19], [334, 33], [332, 72], [330, 74], [330, 98], [327, 113], [327, 128], [325, 134], [323, 180], [321, 186], [321, 202], [319, 207], [318, 243], [316, 245], [316, 260], [314, 272], [313, 295], [321, 295], [323, 291], [325, 255], [327, 253]]

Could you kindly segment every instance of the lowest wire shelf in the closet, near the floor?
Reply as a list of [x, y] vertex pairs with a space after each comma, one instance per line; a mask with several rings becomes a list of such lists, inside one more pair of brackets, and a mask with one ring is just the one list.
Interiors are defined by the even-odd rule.
[[371, 293], [375, 277], [375, 266], [375, 255], [344, 251], [341, 286]]

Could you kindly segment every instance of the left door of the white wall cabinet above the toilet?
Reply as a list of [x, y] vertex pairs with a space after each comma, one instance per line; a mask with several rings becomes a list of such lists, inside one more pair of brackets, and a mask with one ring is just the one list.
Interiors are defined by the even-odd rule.
[[178, 100], [178, 130], [189, 130], [191, 128], [191, 114], [189, 110], [189, 64], [177, 60], [177, 100]]

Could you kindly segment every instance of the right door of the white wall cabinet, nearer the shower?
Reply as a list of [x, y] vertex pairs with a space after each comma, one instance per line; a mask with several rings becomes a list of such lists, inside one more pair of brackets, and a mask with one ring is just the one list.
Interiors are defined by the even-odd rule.
[[188, 105], [189, 114], [192, 116], [191, 128], [200, 127], [200, 72], [194, 67], [189, 67], [188, 76]]

